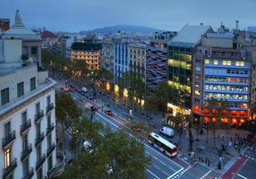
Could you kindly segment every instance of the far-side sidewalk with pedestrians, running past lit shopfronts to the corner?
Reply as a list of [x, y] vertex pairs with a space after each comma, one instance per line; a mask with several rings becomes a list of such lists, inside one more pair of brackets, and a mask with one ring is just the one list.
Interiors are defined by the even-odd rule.
[[[90, 89], [90, 88], [88, 88]], [[111, 98], [107, 98], [106, 95], [99, 95], [96, 103], [99, 107], [109, 107], [112, 109], [113, 114], [119, 117], [124, 118], [125, 120], [134, 120], [137, 122], [143, 123], [145, 126], [148, 126], [151, 131], [158, 132], [159, 129], [163, 126], [162, 124], [162, 115], [160, 113], [150, 112], [147, 116], [141, 112], [141, 110], [132, 110], [132, 117], [130, 114], [130, 108], [124, 107], [124, 104], [120, 104], [119, 101], [114, 102]], [[130, 116], [130, 117], [129, 117]], [[216, 130], [216, 145], [214, 147], [214, 139], [211, 131], [208, 132], [208, 142], [207, 142], [207, 132], [204, 131], [203, 134], [198, 134], [195, 129], [192, 129], [193, 136], [193, 152], [194, 155], [191, 157], [188, 155], [189, 147], [189, 136], [186, 129], [183, 129], [183, 134], [181, 138], [181, 144], [179, 148], [179, 153], [187, 158], [187, 160], [198, 161], [202, 166], [206, 166], [209, 169], [217, 172], [224, 173], [226, 172], [233, 164], [235, 164], [237, 158], [248, 148], [248, 146], [241, 146], [240, 151], [235, 149], [235, 141], [241, 141], [248, 132], [241, 130], [225, 130], [218, 129]], [[237, 135], [239, 137], [237, 137]], [[238, 140], [238, 138], [240, 140]], [[179, 143], [180, 137], [179, 134], [175, 133], [175, 137], [167, 139], [173, 143]], [[231, 141], [231, 143], [229, 143]], [[231, 145], [230, 145], [231, 144]], [[222, 150], [222, 146], [226, 147], [226, 150]], [[221, 158], [219, 158], [221, 157]], [[221, 160], [221, 169], [218, 169], [218, 163]]]

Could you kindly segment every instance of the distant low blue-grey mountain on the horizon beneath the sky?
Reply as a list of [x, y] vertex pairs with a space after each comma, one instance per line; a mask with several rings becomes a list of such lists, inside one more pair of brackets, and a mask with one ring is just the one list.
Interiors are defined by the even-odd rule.
[[115, 25], [115, 26], [107, 26], [107, 27], [103, 27], [95, 30], [81, 31], [81, 33], [95, 32], [95, 33], [101, 33], [101, 34], [108, 34], [108, 33], [116, 33], [119, 30], [124, 31], [126, 33], [135, 33], [135, 32], [152, 33], [155, 31], [163, 31], [163, 30], [157, 30], [157, 29], [149, 28], [145, 26]]

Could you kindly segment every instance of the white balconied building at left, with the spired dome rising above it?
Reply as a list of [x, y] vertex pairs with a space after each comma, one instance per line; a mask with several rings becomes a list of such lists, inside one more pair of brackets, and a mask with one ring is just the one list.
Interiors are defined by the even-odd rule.
[[28, 62], [21, 60], [24, 44], [35, 42], [37, 47], [37, 36], [25, 28], [17, 11], [13, 28], [0, 38], [0, 176], [4, 179], [52, 178], [64, 171], [64, 155], [55, 146], [56, 82], [40, 67], [40, 50]]

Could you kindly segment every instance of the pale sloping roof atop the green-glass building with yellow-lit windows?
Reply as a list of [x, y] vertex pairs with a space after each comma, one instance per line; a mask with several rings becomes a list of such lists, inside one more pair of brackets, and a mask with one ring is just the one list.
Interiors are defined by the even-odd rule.
[[211, 29], [208, 25], [185, 25], [174, 38], [168, 42], [168, 46], [193, 47], [201, 41], [201, 36]]

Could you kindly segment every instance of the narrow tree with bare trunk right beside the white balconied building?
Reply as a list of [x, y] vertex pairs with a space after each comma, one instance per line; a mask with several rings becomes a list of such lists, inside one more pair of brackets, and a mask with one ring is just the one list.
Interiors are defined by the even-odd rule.
[[73, 120], [81, 115], [81, 108], [77, 106], [70, 94], [65, 92], [56, 93], [55, 105], [57, 123], [62, 126], [65, 152], [64, 132], [73, 124]]

